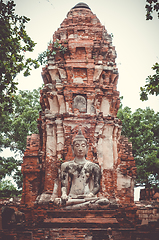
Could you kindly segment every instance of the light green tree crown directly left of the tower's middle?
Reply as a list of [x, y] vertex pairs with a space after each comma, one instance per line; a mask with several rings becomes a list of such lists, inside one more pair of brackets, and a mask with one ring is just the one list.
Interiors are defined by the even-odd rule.
[[9, 147], [23, 153], [27, 135], [38, 133], [36, 120], [41, 109], [39, 91], [20, 90], [14, 95], [13, 112], [5, 111], [0, 116], [0, 149]]

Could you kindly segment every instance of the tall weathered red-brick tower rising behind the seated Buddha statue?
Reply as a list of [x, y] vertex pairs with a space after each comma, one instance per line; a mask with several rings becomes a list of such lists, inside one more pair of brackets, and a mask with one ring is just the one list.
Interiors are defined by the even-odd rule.
[[87, 4], [78, 3], [54, 33], [48, 50], [40, 98], [37, 194], [45, 196], [41, 201], [52, 192], [60, 196], [60, 163], [73, 160], [72, 140], [81, 129], [89, 146], [87, 159], [101, 167], [99, 196], [133, 201], [135, 162], [131, 144], [120, 136], [118, 69], [111, 35]]

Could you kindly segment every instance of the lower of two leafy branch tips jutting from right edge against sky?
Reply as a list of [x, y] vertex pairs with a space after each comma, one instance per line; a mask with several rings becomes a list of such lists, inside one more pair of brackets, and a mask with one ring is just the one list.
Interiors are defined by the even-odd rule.
[[156, 73], [148, 76], [146, 79], [147, 83], [144, 87], [140, 88], [140, 100], [142, 101], [148, 100], [148, 94], [156, 94], [156, 96], [159, 94], [159, 64], [155, 63], [152, 69], [155, 70]]

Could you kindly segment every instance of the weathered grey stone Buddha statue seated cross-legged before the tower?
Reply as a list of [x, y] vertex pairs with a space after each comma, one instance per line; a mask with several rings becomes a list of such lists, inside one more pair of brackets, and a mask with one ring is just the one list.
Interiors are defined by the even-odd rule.
[[62, 195], [61, 199], [55, 199], [55, 204], [80, 209], [109, 203], [108, 199], [96, 196], [100, 190], [101, 170], [96, 163], [86, 160], [87, 150], [87, 140], [80, 130], [73, 140], [74, 160], [61, 165]]

